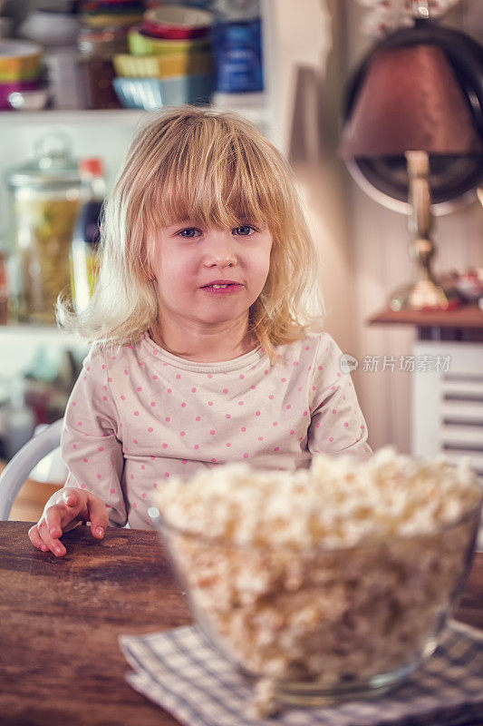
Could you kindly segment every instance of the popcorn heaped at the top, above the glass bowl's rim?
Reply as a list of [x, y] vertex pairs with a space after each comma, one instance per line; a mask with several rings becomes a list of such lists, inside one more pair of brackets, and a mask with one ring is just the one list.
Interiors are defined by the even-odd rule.
[[419, 463], [392, 446], [369, 460], [318, 454], [310, 470], [245, 464], [172, 476], [159, 492], [164, 518], [193, 535], [232, 544], [347, 547], [388, 535], [423, 535], [478, 502], [476, 475], [439, 456]]

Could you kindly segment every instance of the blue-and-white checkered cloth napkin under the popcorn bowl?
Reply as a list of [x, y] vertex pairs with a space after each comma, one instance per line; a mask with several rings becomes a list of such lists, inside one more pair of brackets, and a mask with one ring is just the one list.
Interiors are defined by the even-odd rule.
[[[123, 635], [130, 685], [187, 726], [274, 726], [246, 716], [252, 688], [198, 627]], [[283, 726], [456, 726], [483, 721], [483, 632], [452, 621], [431, 658], [394, 691], [324, 708], [285, 708]]]

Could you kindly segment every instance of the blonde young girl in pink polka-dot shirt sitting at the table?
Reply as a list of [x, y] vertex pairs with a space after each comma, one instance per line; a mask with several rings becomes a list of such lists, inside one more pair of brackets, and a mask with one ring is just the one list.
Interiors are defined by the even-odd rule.
[[65, 554], [59, 537], [79, 521], [99, 538], [108, 524], [148, 528], [150, 496], [199, 466], [371, 456], [341, 350], [321, 332], [290, 168], [251, 124], [189, 106], [151, 114], [106, 203], [101, 259], [90, 308], [59, 304], [93, 345], [64, 417], [69, 476], [29, 532], [36, 547]]

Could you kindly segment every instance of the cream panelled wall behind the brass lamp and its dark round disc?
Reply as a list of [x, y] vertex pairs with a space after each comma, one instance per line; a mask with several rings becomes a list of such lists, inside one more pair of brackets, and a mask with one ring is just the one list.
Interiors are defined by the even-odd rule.
[[[445, 23], [483, 40], [483, 13], [479, 0], [464, 0], [445, 18]], [[362, 8], [354, 0], [341, 2], [348, 64], [352, 68], [367, 48], [359, 30]], [[354, 355], [411, 355], [415, 331], [411, 327], [369, 327], [367, 320], [386, 307], [391, 290], [413, 280], [414, 268], [408, 255], [410, 235], [403, 215], [386, 210], [372, 201], [344, 175], [346, 209], [350, 211], [350, 243], [355, 305], [353, 325], [357, 334]], [[433, 239], [437, 245], [434, 271], [483, 266], [483, 210], [478, 201], [435, 221]], [[382, 358], [381, 358], [382, 360]], [[483, 361], [482, 361], [483, 367]], [[397, 368], [397, 366], [396, 366]], [[355, 375], [362, 410], [367, 419], [373, 448], [393, 443], [410, 452], [411, 374], [362, 372]]]

